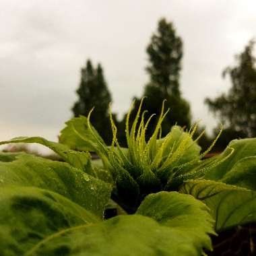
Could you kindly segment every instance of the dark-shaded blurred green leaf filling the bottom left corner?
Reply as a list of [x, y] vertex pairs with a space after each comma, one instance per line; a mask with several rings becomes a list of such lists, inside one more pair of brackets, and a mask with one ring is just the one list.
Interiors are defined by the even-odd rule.
[[0, 188], [0, 252], [20, 256], [66, 228], [99, 222], [69, 199], [34, 187]]

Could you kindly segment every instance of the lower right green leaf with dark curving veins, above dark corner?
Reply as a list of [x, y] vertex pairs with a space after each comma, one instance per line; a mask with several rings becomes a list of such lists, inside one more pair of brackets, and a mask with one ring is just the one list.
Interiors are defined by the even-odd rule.
[[256, 221], [256, 192], [216, 181], [187, 181], [181, 193], [193, 195], [210, 207], [216, 231]]

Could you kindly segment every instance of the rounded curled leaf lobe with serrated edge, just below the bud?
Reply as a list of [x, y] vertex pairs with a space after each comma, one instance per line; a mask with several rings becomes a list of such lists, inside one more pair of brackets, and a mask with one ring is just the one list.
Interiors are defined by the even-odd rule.
[[[164, 226], [181, 229], [188, 235], [189, 243], [198, 248], [211, 248], [207, 234], [215, 234], [209, 209], [191, 195], [177, 192], [159, 192], [148, 195], [136, 214], [153, 218]], [[203, 246], [202, 246], [203, 245]]]

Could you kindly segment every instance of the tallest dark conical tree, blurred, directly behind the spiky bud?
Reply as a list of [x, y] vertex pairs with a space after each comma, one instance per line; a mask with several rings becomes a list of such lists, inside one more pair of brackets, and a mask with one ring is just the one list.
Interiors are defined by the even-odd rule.
[[[173, 24], [161, 19], [146, 49], [150, 61], [146, 71], [150, 75], [150, 82], [144, 88], [143, 96], [147, 98], [143, 109], [148, 110], [148, 117], [154, 113], [159, 115], [163, 100], [167, 100], [166, 107], [170, 107], [170, 113], [162, 124], [163, 136], [175, 123], [185, 127], [191, 125], [189, 103], [182, 98], [179, 88], [182, 47], [181, 37], [177, 36]], [[131, 113], [131, 119], [135, 117], [140, 100], [135, 98], [135, 111]], [[156, 118], [148, 127], [149, 136], [155, 124]]]

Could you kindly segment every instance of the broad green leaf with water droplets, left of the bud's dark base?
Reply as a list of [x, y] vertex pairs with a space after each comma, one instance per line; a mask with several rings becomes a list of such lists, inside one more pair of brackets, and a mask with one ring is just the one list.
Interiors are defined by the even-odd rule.
[[7, 185], [40, 187], [59, 193], [102, 216], [110, 197], [107, 183], [67, 163], [28, 154], [1, 153], [0, 188]]

